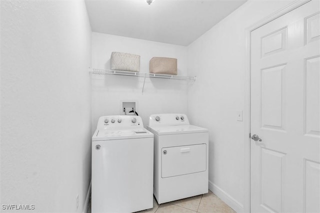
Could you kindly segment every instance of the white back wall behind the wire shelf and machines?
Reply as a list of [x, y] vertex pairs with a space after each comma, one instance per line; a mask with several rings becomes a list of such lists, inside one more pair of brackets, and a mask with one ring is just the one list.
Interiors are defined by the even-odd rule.
[[[153, 56], [177, 58], [178, 74], [187, 73], [186, 46], [92, 32], [92, 68], [109, 69], [112, 51], [140, 55], [140, 72]], [[99, 116], [120, 113], [120, 100], [137, 100], [143, 124], [152, 113], [186, 113], [187, 81], [92, 74], [92, 131]]]

